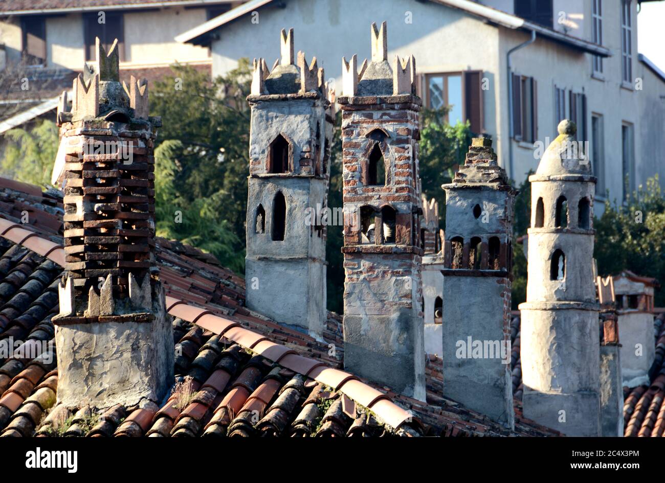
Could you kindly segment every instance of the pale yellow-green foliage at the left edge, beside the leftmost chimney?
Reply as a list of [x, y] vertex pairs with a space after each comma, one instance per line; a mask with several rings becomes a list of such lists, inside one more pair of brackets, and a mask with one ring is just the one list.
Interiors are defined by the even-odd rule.
[[7, 148], [0, 159], [0, 173], [24, 183], [51, 187], [51, 171], [58, 151], [58, 127], [39, 120], [30, 130], [14, 128], [5, 133]]

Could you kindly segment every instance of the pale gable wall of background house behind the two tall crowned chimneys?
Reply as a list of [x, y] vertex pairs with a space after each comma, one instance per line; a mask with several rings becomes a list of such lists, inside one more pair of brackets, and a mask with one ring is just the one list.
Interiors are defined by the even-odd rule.
[[[352, 12], [352, 15], [348, 15]], [[406, 13], [412, 23], [405, 23]], [[416, 57], [416, 72], [456, 72], [481, 69], [491, 88], [484, 92], [485, 128], [494, 133], [499, 58], [495, 27], [478, 22], [456, 9], [416, 0], [289, 0], [287, 8], [264, 7], [259, 23], [246, 15], [221, 29], [212, 45], [213, 76], [237, 66], [241, 57], [265, 58], [272, 66], [279, 57], [279, 32], [293, 27], [295, 50], [303, 50], [307, 62], [317, 57], [327, 79], [341, 90], [342, 56], [358, 54], [358, 65], [369, 58], [370, 25], [388, 23], [388, 60], [396, 54]]]

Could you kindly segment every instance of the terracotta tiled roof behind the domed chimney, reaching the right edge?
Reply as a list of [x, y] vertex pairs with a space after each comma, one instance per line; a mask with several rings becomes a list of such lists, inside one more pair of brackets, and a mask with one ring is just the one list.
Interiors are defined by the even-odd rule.
[[[519, 316], [513, 317], [513, 396], [521, 401], [522, 367], [519, 357]], [[650, 385], [624, 387], [624, 436], [665, 436], [665, 313], [654, 318], [656, 357], [649, 371]]]

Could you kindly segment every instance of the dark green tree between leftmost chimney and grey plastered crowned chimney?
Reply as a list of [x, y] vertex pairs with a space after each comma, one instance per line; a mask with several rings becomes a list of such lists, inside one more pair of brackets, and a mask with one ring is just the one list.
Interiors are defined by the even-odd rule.
[[[156, 158], [158, 235], [209, 251], [236, 272], [245, 263], [249, 175], [249, 60], [210, 80], [172, 66], [156, 82], [150, 106], [162, 116]], [[182, 213], [176, 223], [176, 211]]]

